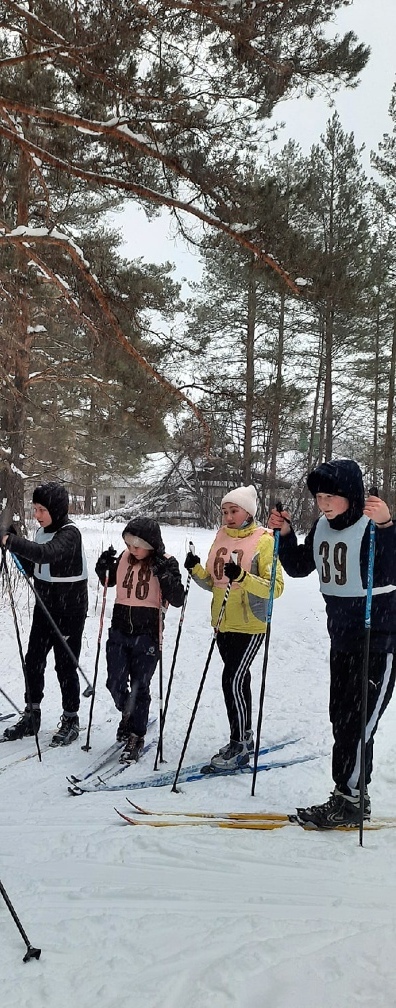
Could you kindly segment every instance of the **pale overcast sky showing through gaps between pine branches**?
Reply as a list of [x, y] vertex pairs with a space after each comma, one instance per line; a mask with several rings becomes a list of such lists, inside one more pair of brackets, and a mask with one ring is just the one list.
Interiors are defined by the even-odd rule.
[[[352, 29], [359, 41], [370, 45], [372, 50], [358, 88], [343, 89], [335, 96], [343, 128], [348, 133], [354, 132], [358, 146], [365, 145], [362, 156], [370, 174], [370, 151], [376, 150], [383, 134], [392, 129], [388, 109], [396, 80], [396, 0], [355, 0], [339, 14], [337, 25], [340, 34]], [[277, 146], [283, 146], [291, 137], [307, 153], [325, 132], [332, 114], [321, 97], [279, 104], [273, 118], [275, 122], [285, 121], [286, 125], [279, 132]], [[166, 214], [149, 223], [144, 211], [130, 204], [116, 215], [115, 224], [124, 231], [125, 245], [121, 251], [129, 259], [142, 256], [148, 262], [168, 260], [176, 265], [177, 279], [199, 279], [199, 260], [175, 237], [174, 226], [169, 225]]]

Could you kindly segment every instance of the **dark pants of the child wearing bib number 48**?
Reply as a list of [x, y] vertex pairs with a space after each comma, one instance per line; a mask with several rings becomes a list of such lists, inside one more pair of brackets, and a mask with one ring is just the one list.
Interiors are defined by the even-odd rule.
[[159, 658], [159, 646], [148, 634], [126, 634], [113, 627], [106, 644], [107, 688], [118, 711], [128, 714], [131, 733], [146, 734], [150, 710], [150, 681]]

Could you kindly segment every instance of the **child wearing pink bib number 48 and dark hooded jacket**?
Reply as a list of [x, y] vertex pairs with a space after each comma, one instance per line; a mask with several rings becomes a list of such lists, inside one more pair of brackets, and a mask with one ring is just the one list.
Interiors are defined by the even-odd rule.
[[112, 547], [99, 557], [102, 585], [117, 587], [106, 646], [107, 688], [122, 718], [117, 741], [126, 743], [122, 762], [137, 762], [144, 746], [150, 707], [150, 679], [159, 658], [164, 609], [179, 608], [184, 589], [174, 556], [165, 553], [159, 525], [152, 518], [128, 522], [122, 533], [126, 549], [118, 558]]

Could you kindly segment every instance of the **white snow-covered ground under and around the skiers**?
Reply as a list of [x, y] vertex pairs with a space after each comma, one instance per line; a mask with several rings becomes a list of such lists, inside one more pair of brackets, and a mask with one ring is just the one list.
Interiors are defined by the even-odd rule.
[[[82, 666], [92, 678], [97, 609], [95, 560], [110, 542], [122, 547], [121, 524], [81, 519], [90, 565], [91, 605]], [[164, 526], [168, 551], [182, 565], [191, 537], [205, 559], [213, 533]], [[25, 646], [32, 600], [15, 584]], [[92, 751], [80, 743], [33, 752], [31, 740], [0, 749], [1, 880], [39, 961], [22, 963], [22, 938], [0, 897], [1, 995], [7, 1008], [393, 1008], [396, 989], [396, 830], [306, 833], [218, 830], [211, 826], [155, 830], [127, 826], [128, 792], [68, 794], [65, 776], [114, 740], [118, 715], [105, 688], [105, 639], [114, 590], [109, 591]], [[211, 597], [190, 588], [164, 735], [167, 766], [176, 767], [205, 666], [212, 631]], [[23, 706], [21, 669], [6, 595], [0, 600], [0, 685]], [[169, 610], [164, 677], [179, 611]], [[298, 738], [284, 750], [314, 756], [259, 773], [251, 796], [247, 774], [170, 787], [134, 790], [153, 809], [290, 811], [324, 800], [332, 788], [332, 736], [324, 614], [315, 575], [286, 578], [275, 602], [262, 742]], [[255, 717], [262, 652], [254, 664]], [[157, 708], [157, 677], [152, 688]], [[83, 700], [87, 729], [90, 702]], [[0, 709], [7, 710], [0, 698]], [[60, 713], [51, 662], [42, 705], [44, 745]], [[375, 744], [371, 785], [374, 815], [396, 814], [395, 701]], [[12, 724], [12, 722], [8, 722]], [[1, 727], [6, 727], [7, 722]], [[185, 762], [206, 761], [228, 738], [217, 651], [210, 666]], [[273, 759], [279, 759], [275, 753]], [[152, 770], [152, 753], [132, 771]], [[122, 777], [120, 778], [122, 780]], [[130, 808], [129, 808], [130, 810]]]

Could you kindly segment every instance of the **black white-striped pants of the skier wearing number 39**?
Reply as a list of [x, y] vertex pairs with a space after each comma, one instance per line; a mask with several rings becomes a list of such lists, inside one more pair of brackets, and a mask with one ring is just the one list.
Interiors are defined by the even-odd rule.
[[[337, 787], [354, 792], [359, 788], [361, 762], [361, 705], [363, 652], [331, 650], [329, 717], [335, 739], [333, 779]], [[373, 769], [374, 736], [388, 707], [395, 684], [396, 655], [371, 651], [366, 727], [366, 784]]]

